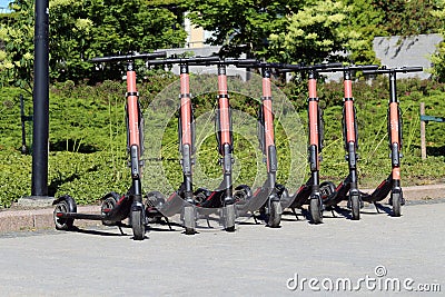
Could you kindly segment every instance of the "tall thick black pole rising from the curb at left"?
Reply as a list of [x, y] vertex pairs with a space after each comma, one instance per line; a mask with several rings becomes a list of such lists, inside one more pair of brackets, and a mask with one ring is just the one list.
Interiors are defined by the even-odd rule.
[[48, 196], [49, 0], [36, 0], [31, 196]]

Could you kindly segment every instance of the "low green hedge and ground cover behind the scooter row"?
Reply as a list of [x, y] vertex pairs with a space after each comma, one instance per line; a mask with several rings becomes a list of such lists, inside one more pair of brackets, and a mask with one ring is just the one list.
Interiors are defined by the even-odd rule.
[[[209, 77], [215, 79], [214, 77]], [[142, 106], [147, 107], [159, 90], [165, 89], [176, 77], [169, 75], [149, 78], [139, 83]], [[307, 125], [306, 89], [288, 83], [280, 89], [290, 96], [297, 107], [303, 125]], [[347, 175], [343, 135], [342, 135], [342, 82], [318, 83], [320, 105], [324, 109], [325, 147], [320, 165], [322, 180], [339, 181]], [[429, 80], [400, 79], [397, 81], [397, 96], [403, 117], [403, 186], [425, 185], [443, 180], [445, 177], [445, 138], [443, 123], [429, 122], [426, 127], [428, 159], [421, 159], [419, 102], [424, 101], [426, 115], [445, 116], [443, 101], [445, 85]], [[249, 86], [245, 87], [248, 91]], [[358, 161], [360, 187], [375, 187], [390, 170], [387, 142], [387, 98], [388, 79], [378, 77], [372, 82], [358, 80], [354, 83], [355, 106], [359, 129]], [[50, 155], [49, 190], [50, 195], [72, 195], [79, 204], [97, 202], [106, 192], [123, 194], [130, 182], [127, 167], [126, 127], [125, 127], [125, 85], [105, 81], [95, 87], [75, 86], [73, 82], [57, 83], [50, 88]], [[9, 207], [22, 196], [30, 195], [31, 157], [20, 155], [20, 109], [18, 96], [20, 89], [0, 89], [0, 202]], [[234, 109], [256, 115], [258, 103], [245, 96], [234, 93], [230, 99]], [[26, 102], [28, 113], [30, 101]], [[215, 93], [205, 93], [194, 98], [196, 116], [211, 111]], [[32, 113], [32, 112], [31, 112]], [[211, 112], [210, 112], [211, 113]], [[286, 180], [289, 170], [289, 154], [286, 151], [287, 136], [277, 122], [276, 143], [279, 156], [279, 180]], [[220, 175], [219, 155], [212, 131], [212, 119], [208, 121], [208, 136], [198, 146], [197, 158], [210, 179]], [[241, 127], [243, 128], [243, 127]], [[254, 127], [255, 129], [255, 127]], [[234, 135], [237, 184], [254, 182], [257, 142], [246, 140], [246, 133]], [[306, 141], [306, 137], [303, 138]], [[67, 146], [68, 143], [68, 146]], [[305, 143], [303, 143], [305, 146]], [[178, 154], [177, 122], [171, 118], [162, 138], [162, 166], [171, 185], [179, 186], [181, 170]], [[304, 156], [301, 160], [306, 160]], [[307, 169], [305, 170], [309, 172]], [[160, 171], [150, 171], [156, 178]], [[205, 182], [207, 184], [207, 181]], [[164, 185], [159, 185], [164, 187]]]

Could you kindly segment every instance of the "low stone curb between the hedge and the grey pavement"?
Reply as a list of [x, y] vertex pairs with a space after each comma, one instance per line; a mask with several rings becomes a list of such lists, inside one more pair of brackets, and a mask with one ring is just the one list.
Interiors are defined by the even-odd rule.
[[[363, 189], [372, 192], [373, 189]], [[445, 198], [445, 185], [426, 185], [403, 187], [404, 198], [413, 200], [433, 200]], [[38, 209], [7, 209], [0, 210], [0, 234], [13, 231], [29, 231], [39, 229], [52, 229], [55, 222], [52, 218], [53, 207]], [[78, 206], [78, 212], [99, 214], [100, 206]], [[100, 226], [97, 220], [76, 220], [76, 226]]]

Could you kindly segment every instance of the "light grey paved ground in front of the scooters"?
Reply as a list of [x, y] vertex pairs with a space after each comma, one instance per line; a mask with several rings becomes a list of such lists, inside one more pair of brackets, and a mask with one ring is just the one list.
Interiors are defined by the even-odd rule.
[[144, 241], [115, 227], [2, 234], [0, 295], [344, 296], [353, 294], [348, 281], [365, 295], [397, 284], [412, 296], [419, 285], [444, 291], [443, 214], [439, 199], [411, 202], [400, 218], [370, 207], [359, 221], [326, 214], [319, 226], [286, 215], [279, 229], [250, 219], [234, 234], [186, 236], [159, 225]]

